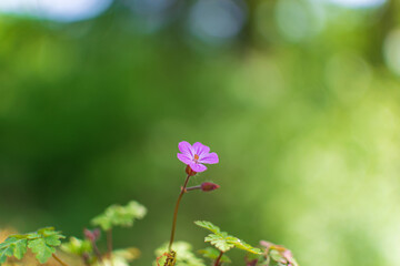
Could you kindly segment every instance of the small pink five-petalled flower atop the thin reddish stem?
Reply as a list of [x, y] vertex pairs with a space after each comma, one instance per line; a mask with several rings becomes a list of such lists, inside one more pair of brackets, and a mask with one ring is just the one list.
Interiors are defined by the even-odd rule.
[[217, 153], [210, 153], [210, 147], [196, 142], [190, 145], [189, 142], [180, 142], [178, 149], [178, 158], [190, 166], [194, 172], [204, 172], [207, 167], [203, 164], [216, 164], [219, 162]]

